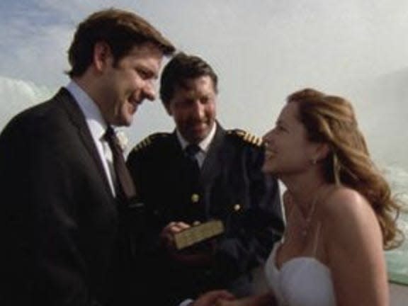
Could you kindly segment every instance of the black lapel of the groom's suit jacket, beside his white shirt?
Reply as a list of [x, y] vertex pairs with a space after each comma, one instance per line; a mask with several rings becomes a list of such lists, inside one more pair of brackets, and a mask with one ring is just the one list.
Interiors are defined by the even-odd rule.
[[55, 96], [55, 101], [61, 103], [64, 110], [67, 111], [67, 114], [72, 124], [74, 125], [75, 128], [77, 128], [79, 138], [81, 139], [82, 143], [84, 144], [84, 147], [94, 160], [99, 175], [103, 178], [106, 190], [110, 191], [111, 187], [109, 185], [108, 178], [106, 177], [105, 170], [103, 169], [101, 157], [99, 157], [98, 149], [96, 149], [94, 139], [92, 138], [88, 125], [86, 124], [84, 113], [82, 113], [81, 108], [79, 108], [77, 101], [69, 93], [69, 91], [67, 91], [67, 89], [64, 88], [60, 89], [60, 91], [57, 93], [57, 95]]

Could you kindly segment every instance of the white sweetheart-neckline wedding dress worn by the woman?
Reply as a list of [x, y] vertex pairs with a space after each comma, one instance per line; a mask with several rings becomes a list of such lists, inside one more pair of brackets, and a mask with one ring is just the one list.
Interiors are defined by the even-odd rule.
[[314, 257], [295, 257], [276, 266], [276, 243], [265, 265], [268, 285], [280, 306], [336, 306], [333, 281], [327, 266]]

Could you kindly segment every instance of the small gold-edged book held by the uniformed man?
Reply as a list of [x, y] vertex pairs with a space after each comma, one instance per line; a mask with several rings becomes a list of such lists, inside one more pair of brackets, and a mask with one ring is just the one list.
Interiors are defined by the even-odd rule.
[[177, 249], [185, 249], [187, 246], [203, 242], [206, 239], [215, 237], [224, 232], [224, 225], [220, 220], [210, 220], [208, 222], [194, 225], [183, 232], [174, 234], [174, 242]]

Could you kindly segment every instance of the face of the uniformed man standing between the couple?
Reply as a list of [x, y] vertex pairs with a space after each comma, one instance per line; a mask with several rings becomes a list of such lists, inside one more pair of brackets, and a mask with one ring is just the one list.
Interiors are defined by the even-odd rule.
[[167, 112], [173, 116], [181, 135], [188, 142], [198, 143], [215, 124], [217, 94], [209, 76], [188, 79], [184, 85], [176, 87]]

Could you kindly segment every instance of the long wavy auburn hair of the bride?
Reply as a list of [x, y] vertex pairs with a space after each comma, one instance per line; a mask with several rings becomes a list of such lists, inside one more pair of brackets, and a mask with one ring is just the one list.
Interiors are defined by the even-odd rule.
[[390, 185], [370, 159], [351, 103], [314, 89], [297, 91], [287, 100], [297, 104], [298, 119], [305, 126], [308, 139], [329, 145], [330, 153], [324, 160], [327, 181], [365, 196], [377, 215], [384, 248], [399, 246], [404, 234], [395, 221], [401, 205], [392, 198]]

